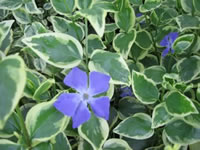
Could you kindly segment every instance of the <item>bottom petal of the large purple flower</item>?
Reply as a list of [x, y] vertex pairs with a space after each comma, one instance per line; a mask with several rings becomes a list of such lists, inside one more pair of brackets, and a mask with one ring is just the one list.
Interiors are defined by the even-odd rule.
[[78, 109], [74, 116], [72, 117], [73, 120], [73, 128], [77, 128], [81, 124], [85, 123], [90, 119], [90, 111], [87, 108], [87, 103], [81, 101], [78, 106]]

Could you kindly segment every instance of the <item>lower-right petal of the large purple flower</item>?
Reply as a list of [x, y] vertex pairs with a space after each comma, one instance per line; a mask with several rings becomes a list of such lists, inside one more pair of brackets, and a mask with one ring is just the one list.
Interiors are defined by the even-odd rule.
[[110, 100], [107, 96], [94, 98], [88, 101], [92, 111], [98, 117], [109, 119]]

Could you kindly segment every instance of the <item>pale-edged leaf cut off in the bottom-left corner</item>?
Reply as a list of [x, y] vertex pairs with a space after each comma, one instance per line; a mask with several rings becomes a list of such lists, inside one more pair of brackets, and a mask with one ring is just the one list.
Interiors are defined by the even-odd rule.
[[2, 150], [19, 150], [20, 145], [6, 139], [0, 139], [0, 149]]

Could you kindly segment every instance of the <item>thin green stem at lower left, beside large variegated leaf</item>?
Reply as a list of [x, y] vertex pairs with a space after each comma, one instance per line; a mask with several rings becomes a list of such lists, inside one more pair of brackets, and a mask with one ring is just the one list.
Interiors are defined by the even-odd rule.
[[25, 122], [24, 122], [24, 118], [23, 118], [22, 112], [21, 112], [21, 110], [20, 110], [18, 105], [16, 107], [16, 111], [17, 111], [17, 114], [19, 116], [19, 121], [20, 121], [20, 126], [21, 126], [21, 129], [22, 129], [22, 132], [23, 132], [24, 137], [26, 139], [26, 144], [30, 148], [29, 150], [31, 150], [31, 140], [30, 140], [30, 137], [28, 135], [28, 131], [26, 129], [26, 125], [25, 125]]

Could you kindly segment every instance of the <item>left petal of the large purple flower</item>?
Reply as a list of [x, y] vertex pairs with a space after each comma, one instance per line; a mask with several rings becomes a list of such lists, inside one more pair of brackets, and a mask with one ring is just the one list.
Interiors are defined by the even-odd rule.
[[54, 107], [67, 116], [73, 116], [81, 101], [80, 95], [75, 93], [63, 93], [57, 101], [54, 102]]

